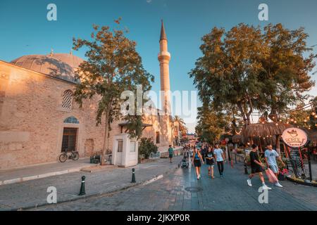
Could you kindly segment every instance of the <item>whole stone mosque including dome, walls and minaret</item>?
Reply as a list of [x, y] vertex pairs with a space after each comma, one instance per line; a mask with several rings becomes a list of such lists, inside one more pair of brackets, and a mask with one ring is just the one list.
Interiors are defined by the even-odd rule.
[[[170, 90], [168, 40], [161, 25], [159, 41], [161, 90]], [[101, 153], [104, 123], [96, 126], [97, 98], [85, 100], [81, 110], [73, 99], [75, 70], [82, 58], [72, 53], [21, 56], [0, 60], [0, 170], [58, 162], [61, 151], [77, 150], [80, 158]], [[164, 97], [168, 108], [169, 96]], [[178, 125], [157, 109], [144, 118], [143, 137], [166, 152]], [[111, 124], [109, 141], [126, 132], [126, 122]]]

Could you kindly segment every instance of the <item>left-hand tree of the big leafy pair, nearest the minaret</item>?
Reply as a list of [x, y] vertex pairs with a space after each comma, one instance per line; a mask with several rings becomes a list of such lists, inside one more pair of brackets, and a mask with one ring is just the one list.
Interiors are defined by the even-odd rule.
[[261, 30], [240, 24], [225, 33], [214, 27], [202, 41], [203, 56], [189, 72], [199, 97], [216, 108], [235, 105], [245, 124], [249, 124], [251, 113], [259, 106], [255, 99], [261, 94], [261, 82], [256, 77], [263, 42]]

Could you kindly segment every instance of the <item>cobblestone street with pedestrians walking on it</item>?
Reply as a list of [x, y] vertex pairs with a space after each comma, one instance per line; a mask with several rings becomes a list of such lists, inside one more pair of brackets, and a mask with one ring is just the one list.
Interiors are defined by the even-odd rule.
[[179, 168], [146, 186], [36, 210], [317, 210], [317, 188], [290, 181], [281, 181], [284, 188], [267, 182], [273, 190], [268, 192], [268, 204], [260, 204], [259, 178], [254, 177], [249, 187], [242, 165], [234, 166], [225, 165], [224, 179], [219, 178], [217, 167], [211, 179], [204, 165], [199, 181], [193, 168]]

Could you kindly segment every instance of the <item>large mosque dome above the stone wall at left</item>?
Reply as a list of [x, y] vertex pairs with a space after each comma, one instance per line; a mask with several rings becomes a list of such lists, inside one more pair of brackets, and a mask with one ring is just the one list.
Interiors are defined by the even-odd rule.
[[49, 55], [29, 55], [17, 58], [11, 63], [28, 70], [41, 72], [51, 77], [77, 82], [75, 70], [84, 60], [71, 53], [51, 53]]

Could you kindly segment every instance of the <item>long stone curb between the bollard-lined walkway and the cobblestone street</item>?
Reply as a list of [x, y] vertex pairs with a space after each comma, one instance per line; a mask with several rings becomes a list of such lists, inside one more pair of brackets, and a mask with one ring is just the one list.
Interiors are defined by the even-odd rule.
[[164, 176], [167, 176], [168, 174], [171, 174], [173, 173], [176, 169], [178, 169], [178, 165], [180, 165], [180, 162], [176, 165], [176, 167], [174, 167], [174, 170], [173, 169], [170, 169], [169, 171], [163, 173], [163, 174], [159, 174], [159, 175], [156, 175], [154, 177], [152, 177], [151, 179], [147, 179], [147, 180], [144, 180], [144, 181], [139, 181], [135, 184], [131, 184], [128, 185], [128, 186], [124, 186], [122, 188], [119, 188], [119, 189], [116, 189], [116, 190], [113, 190], [113, 191], [106, 191], [104, 193], [94, 193], [92, 195], [78, 195], [77, 198], [73, 198], [73, 199], [68, 199], [68, 200], [62, 200], [56, 204], [49, 204], [49, 203], [42, 203], [42, 204], [39, 204], [39, 205], [34, 205], [34, 206], [27, 206], [27, 207], [18, 207], [18, 208], [13, 208], [13, 209], [10, 209], [10, 210], [7, 210], [7, 211], [23, 211], [23, 210], [32, 210], [32, 209], [37, 209], [39, 207], [44, 207], [44, 206], [51, 206], [51, 205], [58, 205], [58, 204], [63, 204], [63, 203], [70, 203], [70, 202], [75, 202], [77, 200], [83, 200], [83, 199], [89, 199], [89, 198], [95, 198], [95, 197], [101, 197], [101, 196], [104, 196], [104, 195], [113, 195], [113, 194], [116, 194], [116, 193], [120, 193], [122, 191], [126, 191], [130, 188], [135, 188], [137, 186], [145, 186], [147, 184], [151, 184], [152, 182], [154, 181], [157, 181], [159, 179], [163, 179]]

